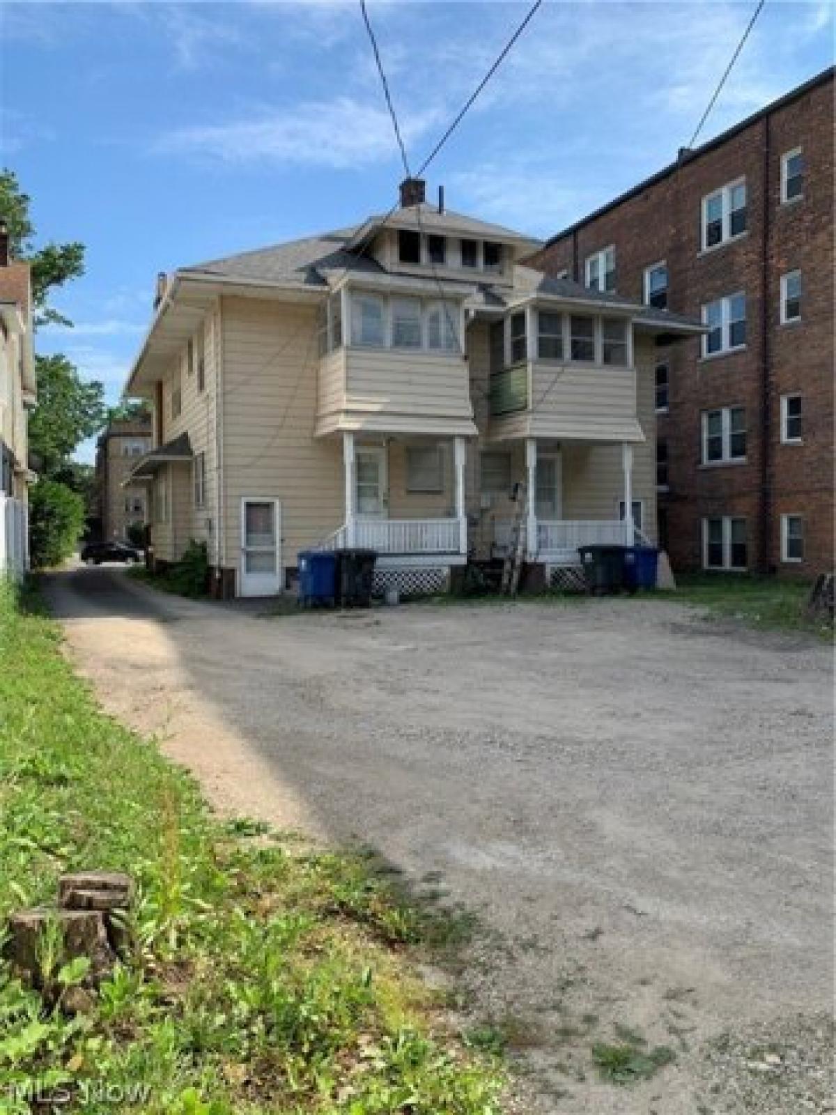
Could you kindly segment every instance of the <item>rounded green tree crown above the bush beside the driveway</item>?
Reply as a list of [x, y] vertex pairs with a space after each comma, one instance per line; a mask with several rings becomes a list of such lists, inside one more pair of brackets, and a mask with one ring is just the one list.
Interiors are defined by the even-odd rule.
[[38, 357], [38, 406], [29, 418], [29, 447], [46, 476], [65, 468], [79, 442], [105, 420], [104, 388], [85, 382], [66, 356]]

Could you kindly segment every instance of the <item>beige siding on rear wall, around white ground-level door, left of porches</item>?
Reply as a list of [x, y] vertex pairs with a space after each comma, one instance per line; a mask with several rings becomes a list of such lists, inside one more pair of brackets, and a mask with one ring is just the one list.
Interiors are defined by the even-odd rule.
[[314, 438], [315, 311], [224, 298], [223, 432], [225, 565], [237, 568], [241, 500], [282, 505], [282, 563], [297, 564], [344, 520], [342, 440]]

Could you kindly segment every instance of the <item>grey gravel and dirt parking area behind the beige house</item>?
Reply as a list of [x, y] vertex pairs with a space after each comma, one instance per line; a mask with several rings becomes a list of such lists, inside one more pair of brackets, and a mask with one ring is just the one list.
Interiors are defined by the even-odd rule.
[[[825, 648], [659, 602], [263, 619], [106, 569], [49, 595], [105, 705], [222, 807], [370, 844], [479, 915], [465, 983], [543, 1111], [832, 1109]], [[677, 1060], [601, 1083], [619, 1027]]]

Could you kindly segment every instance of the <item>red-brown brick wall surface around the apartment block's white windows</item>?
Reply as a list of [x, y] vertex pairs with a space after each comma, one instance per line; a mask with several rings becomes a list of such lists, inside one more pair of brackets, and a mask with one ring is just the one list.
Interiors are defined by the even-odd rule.
[[[664, 259], [670, 309], [694, 317], [704, 302], [746, 291], [745, 351], [702, 360], [697, 340], [673, 345], [667, 353], [660, 351], [670, 365], [670, 408], [667, 415], [659, 415], [658, 423], [658, 436], [668, 443], [670, 492], [660, 495], [660, 506], [668, 512], [674, 569], [700, 566], [703, 516], [738, 514], [747, 518], [751, 568], [777, 568], [805, 576], [833, 568], [833, 96], [830, 78], [717, 147], [683, 162], [673, 173], [568, 233], [532, 261], [552, 274], [564, 269], [572, 274], [576, 259], [576, 278], [583, 281], [585, 258], [614, 244], [618, 291], [641, 300], [644, 268]], [[781, 154], [798, 146], [804, 148], [806, 164], [804, 200], [781, 205]], [[747, 183], [746, 235], [701, 252], [702, 197], [741, 176]], [[781, 326], [780, 275], [798, 268], [803, 320]], [[765, 362], [769, 367], [766, 403]], [[795, 391], [803, 396], [804, 444], [787, 446], [780, 444], [780, 396]], [[701, 413], [723, 406], [746, 407], [747, 459], [745, 464], [706, 467], [701, 464]], [[765, 500], [766, 520], [761, 516]], [[800, 565], [781, 565], [782, 513], [805, 517], [805, 562]], [[765, 522], [766, 550], [761, 545]]]

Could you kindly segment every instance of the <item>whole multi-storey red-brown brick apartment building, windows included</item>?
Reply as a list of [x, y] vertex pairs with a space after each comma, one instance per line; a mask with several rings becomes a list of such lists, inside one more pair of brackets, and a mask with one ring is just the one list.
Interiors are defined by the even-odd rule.
[[533, 265], [702, 316], [660, 347], [674, 569], [833, 569], [834, 69], [546, 242]]

